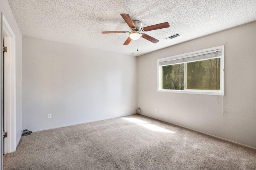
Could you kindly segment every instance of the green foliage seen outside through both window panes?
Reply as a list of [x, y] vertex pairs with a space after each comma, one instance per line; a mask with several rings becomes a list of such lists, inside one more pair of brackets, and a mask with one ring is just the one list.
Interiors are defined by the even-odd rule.
[[[162, 89], [184, 90], [184, 63], [162, 66]], [[186, 89], [220, 90], [220, 58], [186, 63]]]

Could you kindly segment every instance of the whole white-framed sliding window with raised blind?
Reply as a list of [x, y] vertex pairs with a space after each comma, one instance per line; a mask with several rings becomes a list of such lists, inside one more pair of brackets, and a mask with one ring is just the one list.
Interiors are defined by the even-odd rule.
[[158, 92], [224, 95], [224, 45], [158, 59]]

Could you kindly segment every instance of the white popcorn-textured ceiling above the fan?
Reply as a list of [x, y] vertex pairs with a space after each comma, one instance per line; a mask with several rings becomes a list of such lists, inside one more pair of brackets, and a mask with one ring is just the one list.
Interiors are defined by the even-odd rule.
[[[256, 20], [256, 0], [8, 0], [22, 35], [112, 51], [143, 55], [164, 47]], [[123, 45], [130, 31], [121, 13], [143, 27], [169, 22], [147, 31], [144, 38]], [[181, 36], [164, 39], [175, 33]], [[138, 51], [137, 51], [138, 49]]]

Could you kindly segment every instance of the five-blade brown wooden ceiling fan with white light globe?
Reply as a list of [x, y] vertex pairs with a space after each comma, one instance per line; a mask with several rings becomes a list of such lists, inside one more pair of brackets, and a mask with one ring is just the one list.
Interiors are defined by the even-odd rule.
[[145, 33], [140, 33], [140, 31], [152, 31], [155, 29], [162, 29], [162, 28], [168, 28], [170, 27], [168, 22], [159, 23], [156, 25], [151, 25], [148, 27], [142, 28], [142, 22], [138, 20], [132, 20], [129, 16], [129, 14], [121, 14], [122, 18], [124, 18], [124, 21], [128, 24], [131, 31], [102, 31], [102, 33], [129, 33], [128, 39], [124, 42], [124, 45], [128, 45], [132, 40], [137, 40], [140, 37], [147, 39], [148, 41], [151, 41], [152, 43], [157, 43], [159, 40], [155, 39]]

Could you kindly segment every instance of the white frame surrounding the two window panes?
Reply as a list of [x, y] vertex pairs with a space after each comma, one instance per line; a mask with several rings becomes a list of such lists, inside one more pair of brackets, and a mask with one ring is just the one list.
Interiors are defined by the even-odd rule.
[[[184, 90], [169, 90], [169, 89], [162, 89], [162, 66], [166, 65], [171, 65], [171, 64], [166, 64], [166, 65], [161, 65], [161, 62], [168, 62], [168, 61], [175, 61], [181, 59], [186, 59], [188, 57], [195, 57], [198, 56], [199, 54], [204, 54], [204, 53], [209, 53], [210, 51], [218, 51], [221, 50], [221, 55], [220, 55], [220, 90], [197, 90], [197, 89], [186, 89], [186, 63], [189, 62], [195, 62], [195, 61], [202, 61], [202, 60], [209, 60], [213, 58], [207, 58], [207, 59], [200, 59], [200, 60], [193, 60], [189, 62], [178, 62], [175, 64], [181, 64], [184, 63]], [[224, 45], [218, 46], [218, 47], [213, 47], [209, 49], [203, 49], [199, 51], [194, 51], [191, 53], [185, 53], [181, 55], [175, 55], [171, 57], [166, 57], [163, 59], [158, 59], [157, 60], [157, 91], [158, 92], [172, 92], [172, 93], [189, 93], [189, 94], [207, 94], [207, 95], [219, 95], [219, 96], [224, 96]]]

